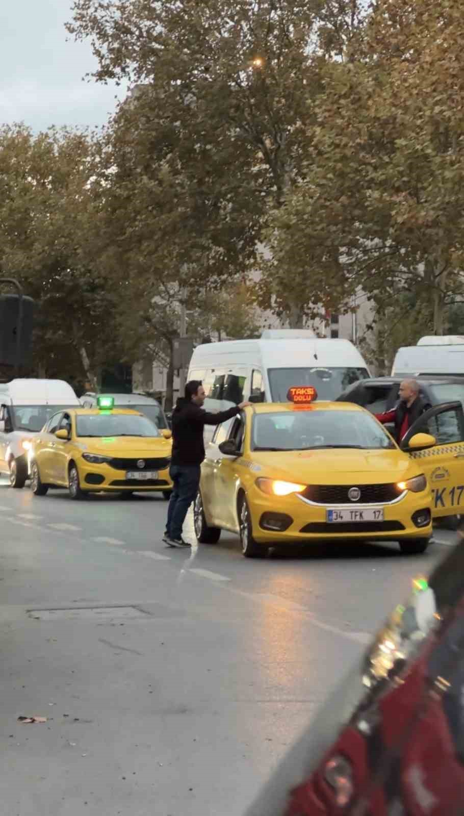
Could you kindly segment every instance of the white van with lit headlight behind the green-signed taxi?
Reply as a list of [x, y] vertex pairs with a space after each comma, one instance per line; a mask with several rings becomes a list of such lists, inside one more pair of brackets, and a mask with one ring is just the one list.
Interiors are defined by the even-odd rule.
[[24, 487], [28, 478], [32, 437], [55, 411], [78, 406], [62, 379], [13, 379], [0, 386], [0, 473], [9, 474], [11, 487]]

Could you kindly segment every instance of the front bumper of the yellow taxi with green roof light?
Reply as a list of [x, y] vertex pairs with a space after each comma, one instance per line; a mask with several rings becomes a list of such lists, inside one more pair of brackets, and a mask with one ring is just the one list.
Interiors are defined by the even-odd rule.
[[139, 479], [126, 479], [124, 470], [117, 470], [106, 463], [92, 464], [81, 459], [77, 467], [82, 490], [93, 490], [95, 493], [102, 490], [106, 493], [122, 493], [125, 490], [148, 493], [157, 490], [172, 490], [173, 487], [169, 468], [159, 470], [157, 479], [140, 481]]

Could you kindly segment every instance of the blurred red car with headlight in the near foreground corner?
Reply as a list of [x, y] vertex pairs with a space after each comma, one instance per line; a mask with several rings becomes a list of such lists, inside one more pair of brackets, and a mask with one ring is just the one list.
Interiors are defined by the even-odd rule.
[[464, 816], [464, 540], [414, 582], [347, 683], [249, 816]]

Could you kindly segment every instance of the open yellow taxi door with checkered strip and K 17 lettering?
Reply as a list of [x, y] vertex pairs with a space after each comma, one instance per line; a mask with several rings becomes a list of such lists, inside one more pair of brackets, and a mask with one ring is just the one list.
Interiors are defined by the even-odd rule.
[[[436, 445], [409, 450], [416, 433], [430, 433]], [[464, 412], [461, 402], [447, 402], [422, 414], [401, 441], [401, 450], [418, 460], [431, 486], [432, 516], [464, 513]]]

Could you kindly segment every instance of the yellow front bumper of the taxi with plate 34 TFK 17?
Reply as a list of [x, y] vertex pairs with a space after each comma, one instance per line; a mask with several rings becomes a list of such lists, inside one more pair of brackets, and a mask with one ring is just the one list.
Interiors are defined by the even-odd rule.
[[[347, 508], [347, 505], [311, 504], [297, 494], [272, 497], [264, 494], [256, 486], [249, 491], [247, 498], [254, 539], [261, 543], [325, 539], [399, 541], [427, 539], [432, 534], [431, 493], [428, 490], [421, 493], [406, 492], [401, 499], [392, 503], [350, 506], [356, 510], [382, 509], [383, 521], [380, 522], [331, 523], [327, 521], [327, 510]], [[281, 529], [270, 529], [272, 521], [275, 521], [275, 526], [281, 526]]]

